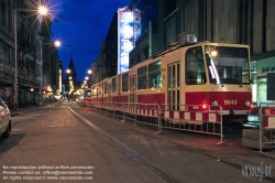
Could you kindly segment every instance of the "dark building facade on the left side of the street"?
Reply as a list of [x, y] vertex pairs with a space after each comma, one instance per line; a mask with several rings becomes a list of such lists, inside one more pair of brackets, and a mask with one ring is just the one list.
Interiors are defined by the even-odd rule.
[[[57, 62], [58, 56], [56, 53], [51, 55], [53, 53], [51, 52], [53, 50], [52, 22], [48, 17], [37, 17], [30, 11], [36, 10], [37, 4], [43, 3], [44, 0], [1, 0], [0, 2], [0, 97], [9, 107], [13, 107], [15, 98], [19, 107], [35, 105], [41, 83], [44, 96], [53, 92], [51, 75], [55, 71], [51, 65], [53, 61]], [[42, 79], [41, 62], [43, 63]], [[18, 89], [15, 89], [15, 80], [18, 80]]]

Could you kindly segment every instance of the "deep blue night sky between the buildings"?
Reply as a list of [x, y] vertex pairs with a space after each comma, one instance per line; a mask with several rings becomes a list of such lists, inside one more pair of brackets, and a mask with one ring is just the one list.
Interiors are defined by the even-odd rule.
[[70, 56], [82, 82], [87, 69], [98, 57], [118, 8], [131, 0], [46, 0], [53, 20], [52, 40], [61, 40], [58, 55], [64, 69]]

